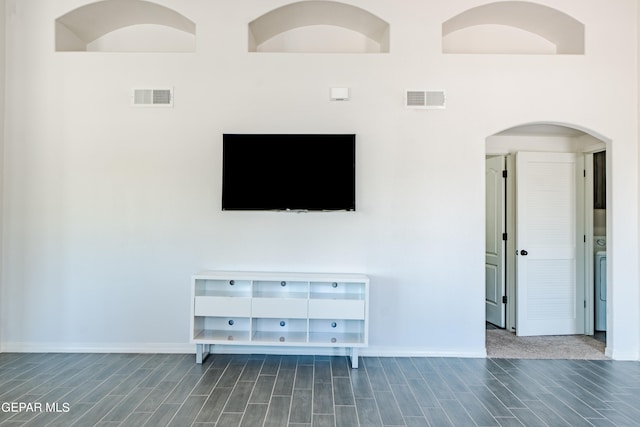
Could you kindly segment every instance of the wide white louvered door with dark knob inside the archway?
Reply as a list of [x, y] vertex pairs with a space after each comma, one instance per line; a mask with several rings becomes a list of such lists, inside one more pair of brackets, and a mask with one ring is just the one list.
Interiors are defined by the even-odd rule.
[[582, 161], [516, 154], [517, 335], [584, 333]]

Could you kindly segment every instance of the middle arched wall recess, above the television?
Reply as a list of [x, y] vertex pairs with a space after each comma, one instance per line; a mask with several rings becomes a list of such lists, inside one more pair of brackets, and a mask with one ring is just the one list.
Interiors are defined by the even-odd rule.
[[[334, 1], [291, 3], [253, 20], [249, 23], [249, 52], [302, 52], [305, 51], [305, 40], [291, 39], [317, 36], [318, 31], [324, 31], [327, 40], [340, 39], [331, 37], [332, 28], [343, 36], [343, 46], [328, 44], [322, 51], [389, 52], [389, 23], [364, 9]], [[344, 37], [348, 33], [351, 35]], [[354, 33], [361, 40], [356, 41]], [[278, 37], [281, 39], [274, 42]], [[354, 41], [353, 46], [345, 49], [345, 40]], [[311, 47], [306, 51], [318, 52], [321, 49]]]

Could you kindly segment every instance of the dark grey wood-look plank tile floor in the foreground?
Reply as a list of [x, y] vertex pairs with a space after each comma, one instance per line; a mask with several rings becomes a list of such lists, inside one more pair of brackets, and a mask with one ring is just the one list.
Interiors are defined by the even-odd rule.
[[640, 362], [0, 354], [1, 426], [632, 426]]

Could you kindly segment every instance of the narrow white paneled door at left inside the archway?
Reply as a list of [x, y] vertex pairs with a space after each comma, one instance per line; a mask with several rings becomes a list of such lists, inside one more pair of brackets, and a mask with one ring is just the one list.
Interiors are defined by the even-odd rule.
[[485, 307], [487, 322], [505, 327], [505, 170], [503, 156], [486, 159], [486, 215], [485, 215]]

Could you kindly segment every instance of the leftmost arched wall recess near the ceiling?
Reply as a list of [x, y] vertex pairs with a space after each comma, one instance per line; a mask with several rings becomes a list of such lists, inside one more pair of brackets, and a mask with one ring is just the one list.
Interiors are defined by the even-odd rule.
[[[99, 43], [99, 39], [122, 29], [131, 36], [139, 28], [140, 37], [144, 28], [162, 27], [164, 33], [175, 34], [174, 41], [167, 44], [167, 51], [194, 51], [196, 24], [173, 9], [143, 0], [103, 0], [81, 6], [56, 19], [56, 51], [101, 50], [100, 46], [113, 43]], [[153, 34], [152, 34], [153, 35]], [[165, 37], [166, 40], [171, 37]], [[123, 42], [122, 49], [132, 50]], [[135, 44], [135, 43], [134, 43]], [[163, 50], [156, 46], [154, 51]]]

